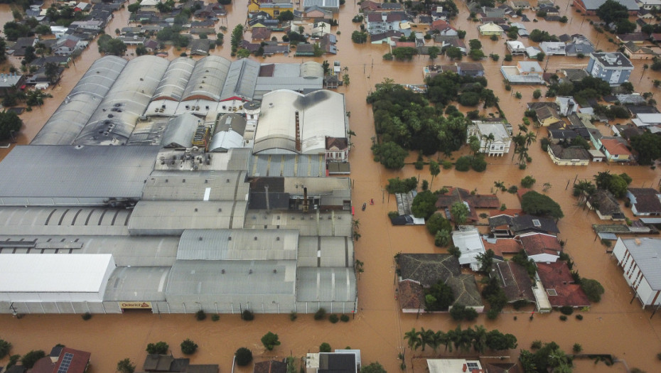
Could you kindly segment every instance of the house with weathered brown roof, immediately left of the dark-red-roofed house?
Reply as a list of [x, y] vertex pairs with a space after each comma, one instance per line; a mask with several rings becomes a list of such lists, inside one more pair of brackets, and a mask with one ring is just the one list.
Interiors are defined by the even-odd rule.
[[494, 271], [489, 276], [498, 280], [498, 285], [503, 288], [507, 303], [526, 301], [534, 303], [534, 293], [532, 292], [532, 280], [525, 268], [509, 261], [495, 261]]

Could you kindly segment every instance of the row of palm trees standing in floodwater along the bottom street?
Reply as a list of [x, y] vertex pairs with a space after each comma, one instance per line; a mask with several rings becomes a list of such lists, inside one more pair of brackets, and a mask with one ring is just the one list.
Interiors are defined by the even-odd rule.
[[461, 352], [469, 352], [472, 347], [475, 352], [482, 353], [487, 349], [503, 351], [517, 347], [517, 337], [514, 335], [503, 334], [495, 329], [487, 331], [483, 325], [475, 325], [475, 329], [468, 327], [464, 330], [461, 329], [461, 325], [457, 325], [456, 329], [447, 332], [413, 328], [404, 333], [404, 340], [407, 340], [409, 348], [413, 351], [417, 351], [419, 347], [421, 351], [424, 351], [425, 347], [431, 347], [437, 352], [441, 346], [444, 346], [449, 352], [452, 352], [452, 347]]

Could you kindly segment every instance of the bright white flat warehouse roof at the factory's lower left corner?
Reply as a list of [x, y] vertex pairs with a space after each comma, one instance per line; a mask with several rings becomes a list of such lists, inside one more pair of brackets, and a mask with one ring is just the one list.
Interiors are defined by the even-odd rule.
[[111, 254], [11, 254], [0, 260], [0, 292], [98, 293]]

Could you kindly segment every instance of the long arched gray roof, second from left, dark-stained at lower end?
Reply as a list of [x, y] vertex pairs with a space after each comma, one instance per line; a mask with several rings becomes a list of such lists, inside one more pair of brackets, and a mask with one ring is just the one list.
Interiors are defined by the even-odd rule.
[[168, 60], [153, 55], [129, 61], [74, 144], [126, 144], [168, 65]]

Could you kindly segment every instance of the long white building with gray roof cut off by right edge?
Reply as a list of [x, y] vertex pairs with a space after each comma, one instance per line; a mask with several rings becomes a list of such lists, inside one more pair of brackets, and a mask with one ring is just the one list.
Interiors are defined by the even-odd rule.
[[613, 256], [643, 308], [661, 305], [661, 239], [620, 237]]

